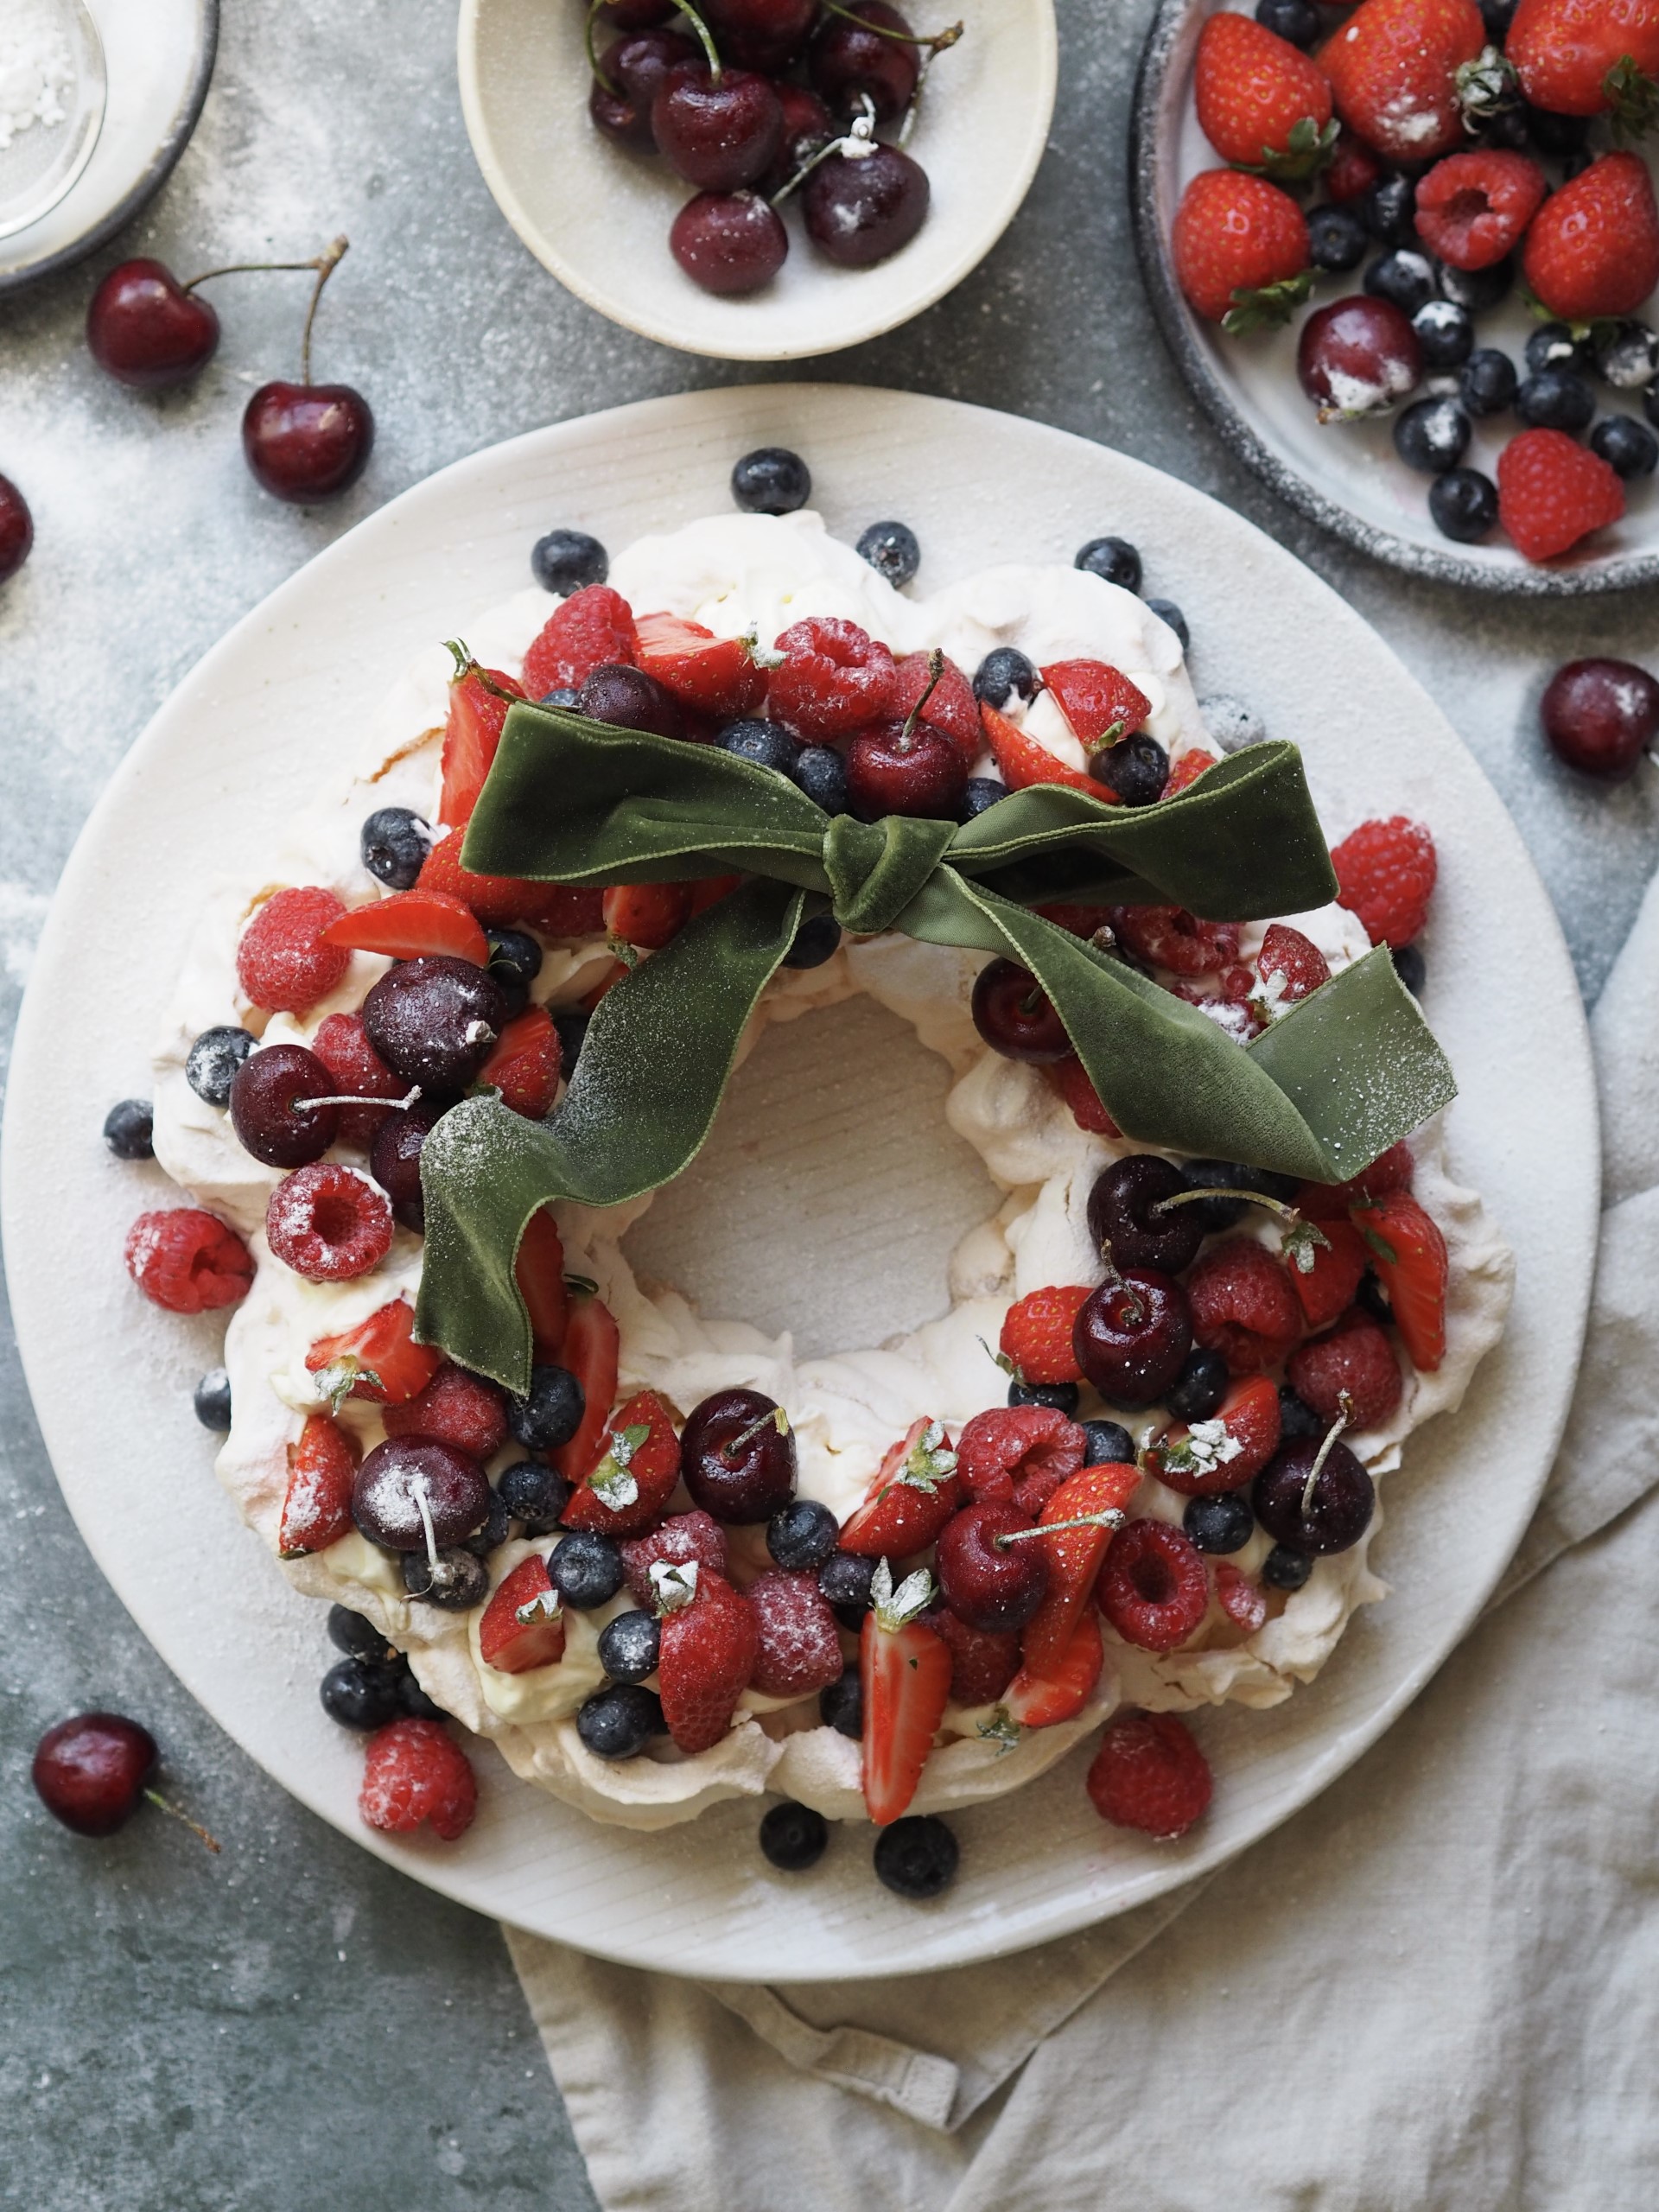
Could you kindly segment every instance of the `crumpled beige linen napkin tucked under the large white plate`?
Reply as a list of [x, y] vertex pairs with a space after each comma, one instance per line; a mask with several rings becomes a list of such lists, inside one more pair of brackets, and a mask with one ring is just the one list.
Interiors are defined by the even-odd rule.
[[1606, 1212], [1566, 1440], [1418, 1705], [1221, 1874], [949, 1975], [697, 1984], [509, 1929], [606, 2212], [1555, 2208], [1588, 2201], [1568, 2168], [1590, 2108], [1655, 2183], [1601, 2201], [1659, 2201], [1621, 2048], [1659, 2013], [1637, 1911], [1659, 1509], [1610, 1531], [1659, 1480], [1659, 885], [1593, 1037]]

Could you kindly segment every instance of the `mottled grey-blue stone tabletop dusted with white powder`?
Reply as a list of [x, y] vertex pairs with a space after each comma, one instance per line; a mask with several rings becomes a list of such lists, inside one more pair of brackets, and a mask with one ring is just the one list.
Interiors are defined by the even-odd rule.
[[[1535, 701], [1579, 653], [1652, 659], [1655, 599], [1449, 597], [1321, 538], [1223, 453], [1159, 349], [1128, 241], [1124, 122], [1148, 15], [1150, 0], [1060, 0], [1053, 146], [1009, 237], [931, 314], [796, 374], [1042, 416], [1214, 491], [1298, 551], [1444, 701], [1520, 821], [1593, 995], [1648, 876], [1655, 783], [1644, 772], [1610, 796], [1571, 785], [1542, 754]], [[4, 303], [0, 469], [38, 520], [31, 564], [0, 593], [7, 1035], [86, 810], [177, 677], [270, 586], [480, 445], [763, 374], [635, 341], [542, 274], [467, 150], [453, 35], [449, 0], [232, 0], [201, 128], [161, 199], [91, 265]], [[314, 252], [334, 230], [352, 254], [323, 310], [319, 369], [372, 396], [380, 442], [343, 504], [296, 513], [250, 482], [237, 418], [254, 383], [292, 374], [303, 279], [221, 285], [219, 358], [161, 400], [104, 383], [80, 321], [95, 276], [124, 254], [192, 272]], [[1179, 599], [1181, 577], [1148, 553], [1148, 591]], [[1201, 690], [1228, 688], [1201, 630], [1194, 672]], [[95, 945], [86, 958], [88, 995], [64, 1020], [97, 1020]], [[321, 1827], [215, 1732], [91, 1566], [9, 1345], [0, 1407], [13, 1540], [0, 1617], [0, 2203], [588, 2208], [498, 1931]], [[104, 1847], [44, 1818], [29, 1750], [86, 1703], [150, 1721], [175, 1787], [223, 1838], [219, 1860], [161, 1818]]]

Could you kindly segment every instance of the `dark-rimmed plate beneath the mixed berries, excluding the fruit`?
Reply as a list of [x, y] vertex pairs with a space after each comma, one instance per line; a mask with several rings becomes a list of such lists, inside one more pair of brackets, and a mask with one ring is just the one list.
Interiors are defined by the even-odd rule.
[[[1314, 522], [1413, 575], [1537, 597], [1659, 582], [1659, 489], [1652, 478], [1626, 484], [1624, 522], [1597, 531], [1582, 551], [1557, 562], [1522, 560], [1502, 531], [1493, 531], [1486, 544], [1453, 544], [1429, 515], [1431, 478], [1407, 469], [1394, 451], [1391, 418], [1318, 422], [1296, 383], [1296, 334], [1307, 310], [1285, 330], [1228, 338], [1188, 307], [1170, 268], [1170, 223], [1192, 177], [1221, 166], [1192, 108], [1192, 58], [1203, 24], [1225, 7], [1248, 11], [1245, 0], [1164, 0], [1141, 58], [1130, 184], [1135, 243], [1164, 338], [1234, 453]], [[1332, 24], [1338, 20], [1332, 15]], [[1347, 276], [1321, 279], [1316, 303], [1358, 292], [1365, 261]], [[1517, 288], [1502, 307], [1480, 316], [1478, 343], [1502, 347], [1520, 367], [1535, 327]], [[1615, 394], [1604, 385], [1597, 385], [1597, 403], [1604, 411], [1641, 411], [1639, 394]], [[1520, 427], [1513, 414], [1475, 422], [1464, 465], [1495, 476], [1498, 453]]]

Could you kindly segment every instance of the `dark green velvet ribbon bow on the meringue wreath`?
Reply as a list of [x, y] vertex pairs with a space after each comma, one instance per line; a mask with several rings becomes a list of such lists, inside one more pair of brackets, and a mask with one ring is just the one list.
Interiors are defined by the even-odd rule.
[[1197, 1006], [1031, 911], [1068, 900], [1259, 920], [1323, 907], [1336, 878], [1301, 754], [1285, 743], [1237, 752], [1155, 807], [1035, 785], [971, 823], [860, 823], [712, 745], [513, 706], [462, 863], [577, 885], [745, 878], [606, 991], [546, 1121], [473, 1097], [425, 1144], [418, 1334], [515, 1391], [531, 1367], [513, 1283], [524, 1223], [549, 1201], [619, 1206], [688, 1166], [743, 1026], [810, 914], [1031, 969], [1108, 1113], [1144, 1144], [1332, 1183], [1455, 1091], [1387, 949], [1239, 1046]]

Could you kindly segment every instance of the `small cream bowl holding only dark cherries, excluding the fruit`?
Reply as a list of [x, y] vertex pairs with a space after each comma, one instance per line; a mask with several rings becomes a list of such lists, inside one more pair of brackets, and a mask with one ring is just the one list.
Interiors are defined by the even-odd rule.
[[[657, 155], [611, 146], [588, 119], [582, 0], [462, 0], [460, 104], [484, 184], [535, 259], [613, 323], [688, 354], [803, 361], [907, 323], [958, 285], [1026, 197], [1055, 104], [1053, 0], [949, 0], [918, 29], [962, 22], [938, 58], [909, 153], [931, 206], [902, 252], [832, 268], [790, 206], [790, 259], [748, 299], [717, 299], [668, 252], [692, 197]], [[606, 33], [608, 35], [608, 33]]]

